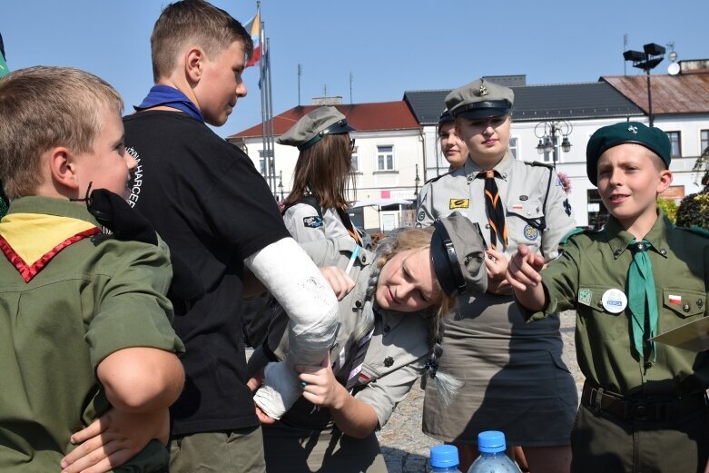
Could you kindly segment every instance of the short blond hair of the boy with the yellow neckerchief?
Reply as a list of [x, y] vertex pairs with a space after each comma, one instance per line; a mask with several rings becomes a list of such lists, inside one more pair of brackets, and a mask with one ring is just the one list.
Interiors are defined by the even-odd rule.
[[10, 199], [42, 184], [40, 156], [65, 146], [89, 153], [106, 113], [123, 100], [103, 79], [69, 67], [19, 69], [0, 80], [0, 179]]

